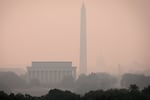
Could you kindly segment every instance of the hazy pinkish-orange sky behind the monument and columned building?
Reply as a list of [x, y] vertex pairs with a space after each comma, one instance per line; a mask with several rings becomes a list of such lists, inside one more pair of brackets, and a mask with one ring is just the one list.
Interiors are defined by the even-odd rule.
[[[79, 66], [82, 0], [0, 0], [0, 67]], [[88, 72], [150, 68], [149, 0], [86, 0]], [[10, 66], [11, 67], [11, 66]]]

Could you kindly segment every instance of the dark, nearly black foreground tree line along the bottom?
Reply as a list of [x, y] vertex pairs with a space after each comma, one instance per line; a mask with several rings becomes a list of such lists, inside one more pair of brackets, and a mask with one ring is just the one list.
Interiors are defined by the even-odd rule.
[[150, 100], [150, 86], [140, 90], [135, 84], [128, 89], [94, 90], [79, 95], [71, 91], [52, 89], [46, 95], [7, 94], [0, 91], [0, 100]]

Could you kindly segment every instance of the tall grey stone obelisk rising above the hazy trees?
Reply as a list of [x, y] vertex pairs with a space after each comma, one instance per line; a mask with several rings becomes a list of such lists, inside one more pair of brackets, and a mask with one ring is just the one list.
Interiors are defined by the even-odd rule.
[[86, 47], [86, 8], [84, 2], [81, 7], [80, 23], [80, 69], [79, 73], [87, 74], [87, 47]]

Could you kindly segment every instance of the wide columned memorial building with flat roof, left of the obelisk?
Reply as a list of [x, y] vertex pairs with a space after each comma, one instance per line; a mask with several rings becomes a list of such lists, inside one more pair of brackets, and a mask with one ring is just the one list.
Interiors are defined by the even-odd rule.
[[37, 79], [41, 84], [59, 83], [68, 76], [76, 78], [72, 62], [32, 62], [27, 70], [29, 80]]

